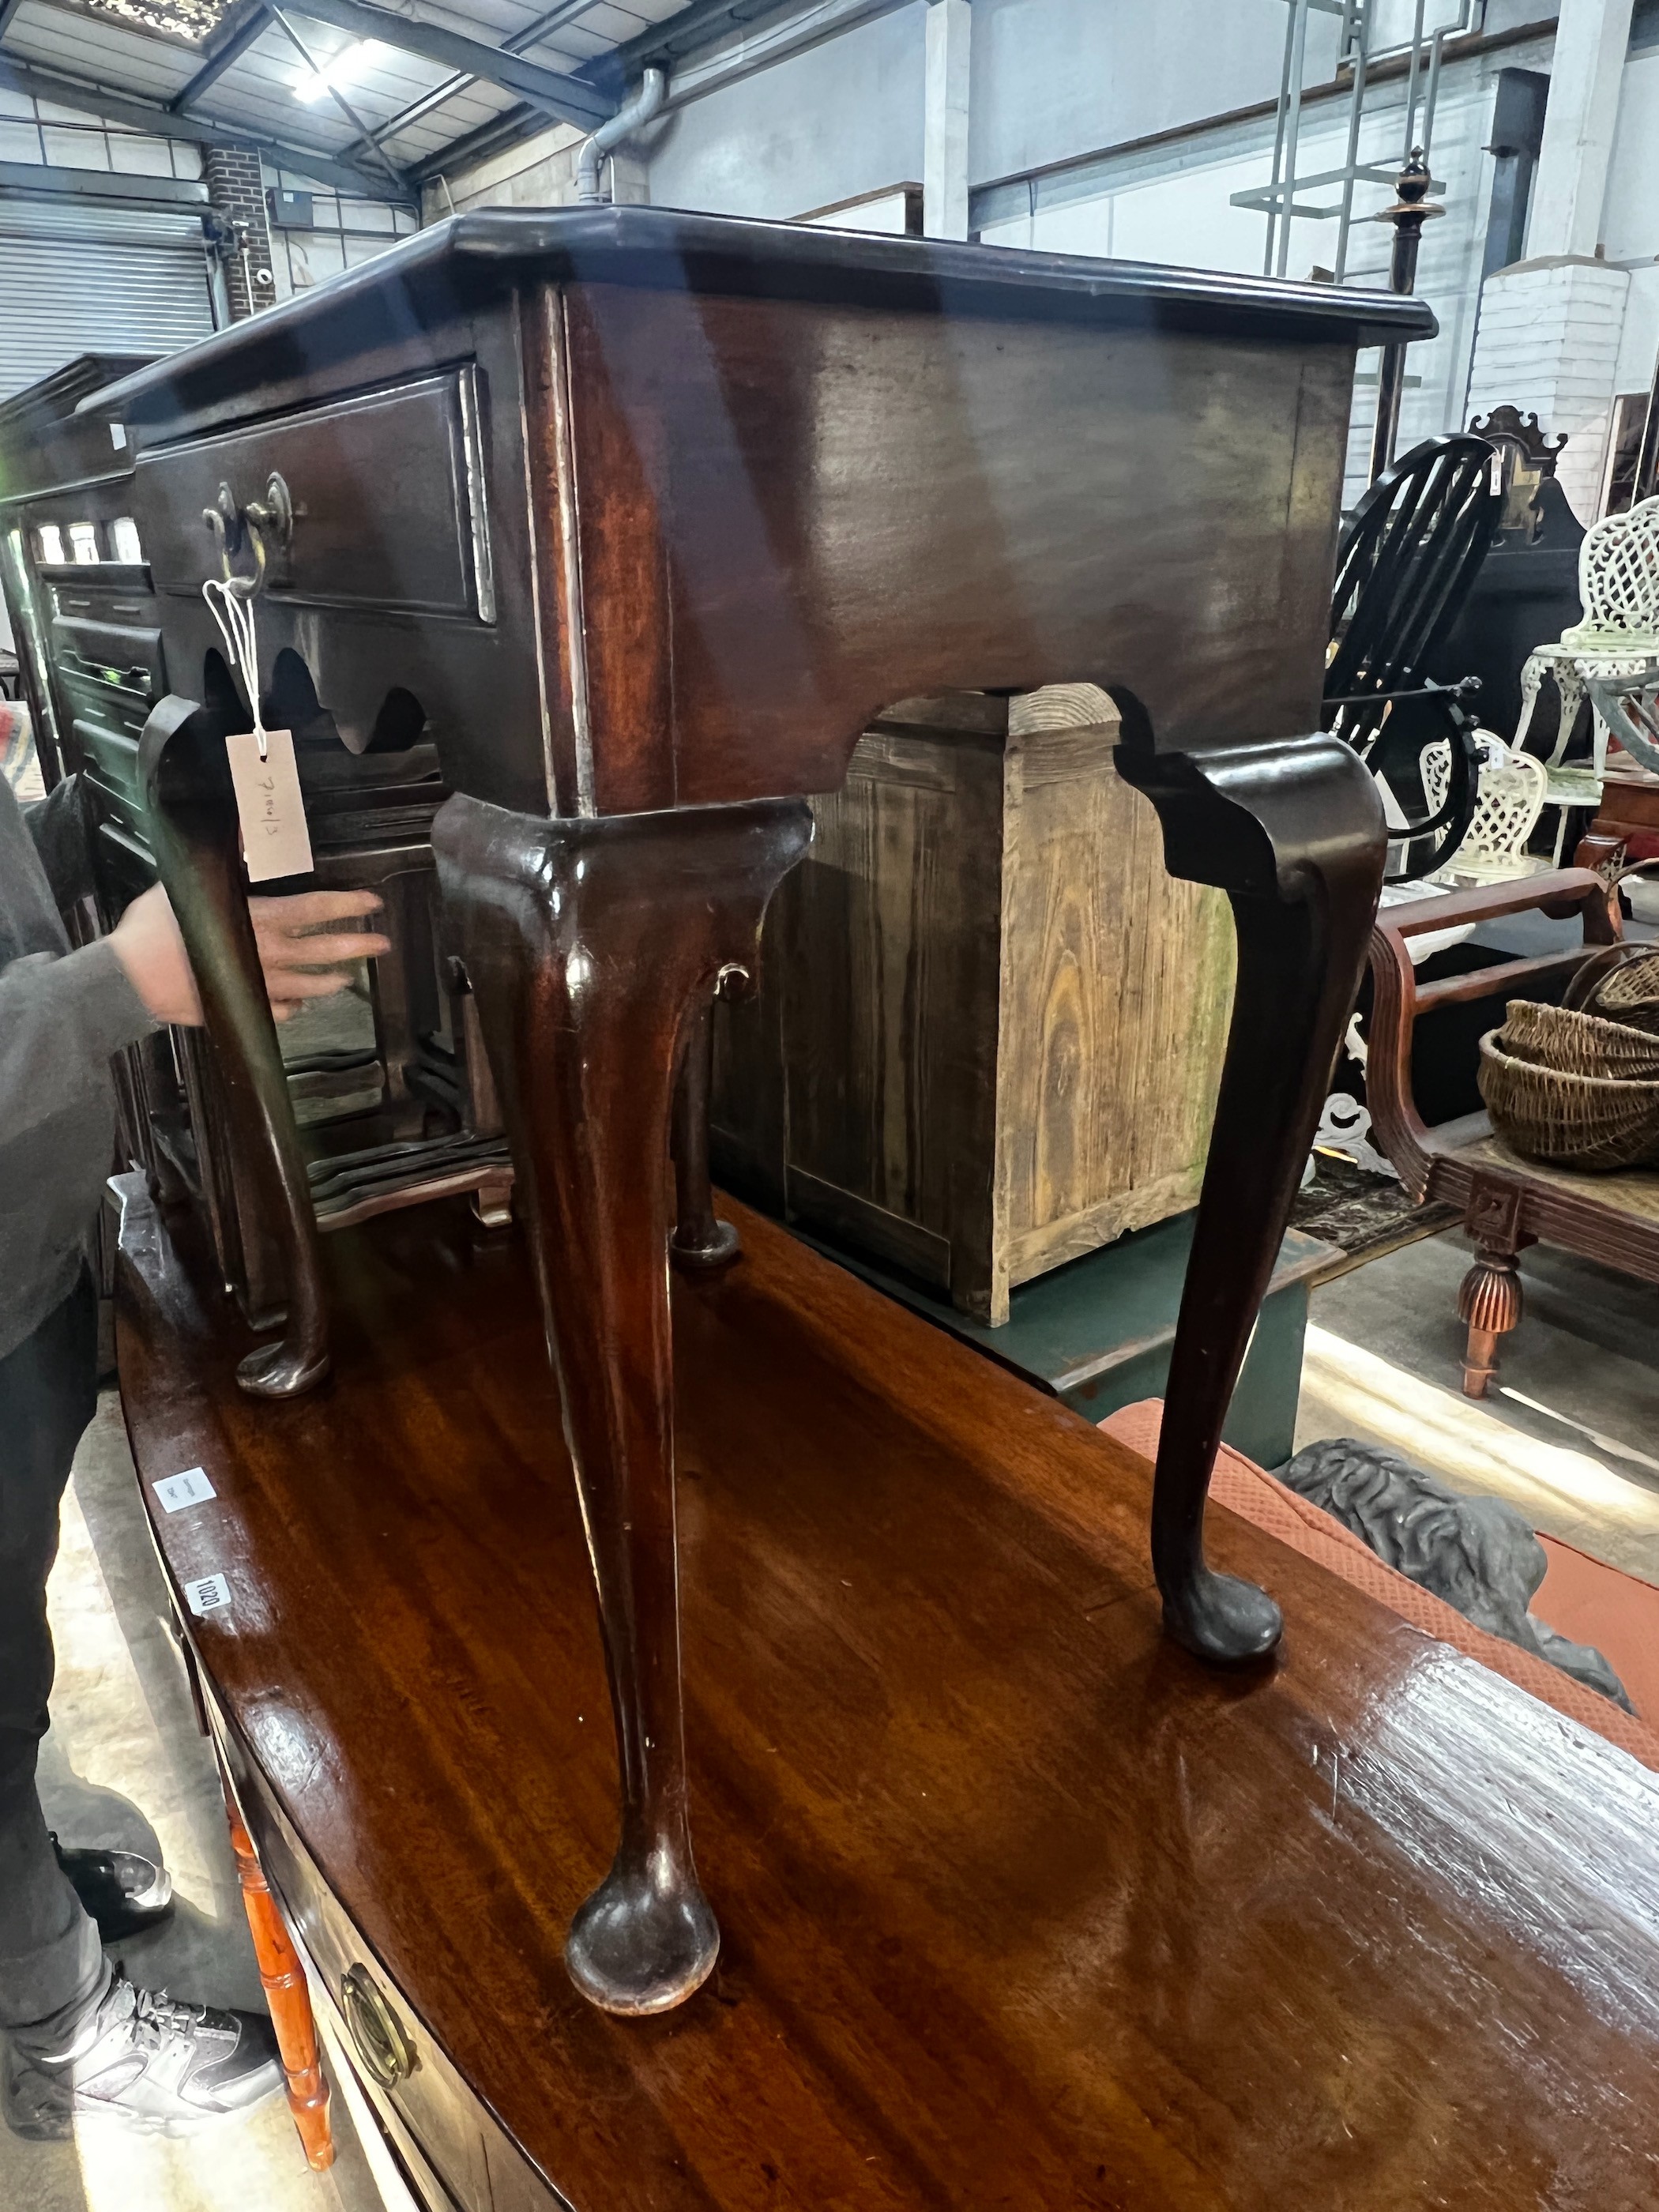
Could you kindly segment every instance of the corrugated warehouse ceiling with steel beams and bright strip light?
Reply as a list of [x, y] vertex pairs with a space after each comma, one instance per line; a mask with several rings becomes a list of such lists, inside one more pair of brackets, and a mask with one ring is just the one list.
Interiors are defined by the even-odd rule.
[[0, 84], [414, 201], [429, 177], [526, 131], [591, 131], [641, 69], [672, 66], [774, 4], [0, 0]]

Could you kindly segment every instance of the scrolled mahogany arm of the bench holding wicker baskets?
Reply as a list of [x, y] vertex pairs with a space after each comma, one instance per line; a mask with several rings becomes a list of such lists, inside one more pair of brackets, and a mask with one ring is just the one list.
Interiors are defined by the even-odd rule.
[[[1438, 929], [1460, 929], [1469, 922], [1491, 922], [1506, 914], [1548, 914], [1564, 920], [1577, 914], [1584, 942], [1559, 953], [1500, 960], [1471, 975], [1444, 975], [1418, 982], [1409, 938]], [[1546, 876], [1517, 876], [1513, 883], [1486, 883], [1449, 898], [1425, 898], [1407, 907], [1387, 907], [1371, 927], [1371, 1037], [1365, 1062], [1365, 1097], [1371, 1108], [1371, 1130], [1413, 1199], [1429, 1192], [1429, 1172], [1440, 1130], [1429, 1128], [1411, 1093], [1411, 1035], [1418, 1018], [1436, 1006], [1469, 1004], [1480, 998], [1524, 995], [1533, 984], [1577, 971], [1595, 958], [1597, 947], [1617, 945], [1624, 936], [1617, 894], [1604, 876], [1588, 867], [1551, 869]], [[1462, 1128], [1462, 1124], [1444, 1124]]]

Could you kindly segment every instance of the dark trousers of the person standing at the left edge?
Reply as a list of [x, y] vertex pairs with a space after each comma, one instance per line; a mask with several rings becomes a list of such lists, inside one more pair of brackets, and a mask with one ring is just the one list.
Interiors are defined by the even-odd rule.
[[97, 1927], [58, 1869], [35, 1792], [53, 1650], [58, 1504], [97, 1407], [91, 1276], [0, 1360], [0, 2028], [49, 2051], [106, 1978]]

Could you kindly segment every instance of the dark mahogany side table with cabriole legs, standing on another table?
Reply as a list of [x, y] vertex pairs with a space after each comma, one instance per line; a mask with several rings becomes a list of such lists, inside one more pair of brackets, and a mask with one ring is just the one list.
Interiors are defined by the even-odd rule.
[[[1431, 327], [1416, 301], [1323, 285], [524, 210], [420, 232], [97, 396], [133, 445], [170, 684], [137, 757], [148, 841], [285, 1259], [288, 1332], [241, 1367], [268, 1398], [325, 1376], [327, 1301], [228, 794], [250, 701], [204, 582], [257, 588], [268, 719], [325, 714], [365, 776], [431, 745], [451, 792], [445, 927], [615, 1697], [622, 1840], [566, 1947], [611, 2011], [681, 2002], [719, 1942], [679, 1681], [677, 1073], [701, 1088], [712, 993], [754, 973], [801, 794], [836, 787], [898, 699], [1104, 686], [1168, 867], [1232, 900], [1152, 1562], [1190, 1650], [1279, 1639], [1276, 1604], [1208, 1568], [1203, 1500], [1385, 852], [1371, 779], [1318, 734], [1354, 354]], [[692, 1186], [699, 1124], [692, 1099]]]

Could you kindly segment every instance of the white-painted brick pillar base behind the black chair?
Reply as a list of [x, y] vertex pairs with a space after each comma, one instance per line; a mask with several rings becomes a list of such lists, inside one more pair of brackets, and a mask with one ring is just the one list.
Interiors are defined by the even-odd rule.
[[1566, 431], [1555, 478], [1584, 524], [1599, 511], [1628, 294], [1628, 270], [1553, 254], [1495, 270], [1480, 299], [1471, 407], [1509, 400]]

